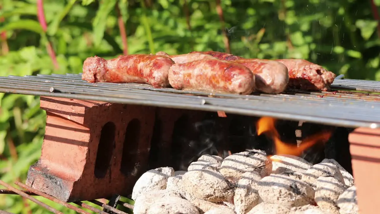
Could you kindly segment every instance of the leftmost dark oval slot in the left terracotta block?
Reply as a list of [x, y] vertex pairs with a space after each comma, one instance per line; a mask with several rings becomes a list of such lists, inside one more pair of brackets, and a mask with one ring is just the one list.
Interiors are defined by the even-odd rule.
[[116, 126], [112, 122], [106, 123], [101, 129], [94, 169], [97, 178], [103, 178], [107, 174], [115, 144], [115, 131]]

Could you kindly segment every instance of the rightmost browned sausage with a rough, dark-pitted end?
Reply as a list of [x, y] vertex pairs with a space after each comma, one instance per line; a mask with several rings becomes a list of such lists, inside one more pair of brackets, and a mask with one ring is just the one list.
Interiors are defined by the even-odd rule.
[[304, 59], [277, 59], [289, 71], [289, 88], [329, 91], [336, 75]]

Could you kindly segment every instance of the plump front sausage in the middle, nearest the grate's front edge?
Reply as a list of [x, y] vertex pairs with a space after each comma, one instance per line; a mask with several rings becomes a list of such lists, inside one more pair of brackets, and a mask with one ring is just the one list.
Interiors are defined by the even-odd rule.
[[174, 64], [168, 77], [176, 89], [234, 94], [250, 94], [255, 89], [255, 76], [247, 67], [219, 59]]

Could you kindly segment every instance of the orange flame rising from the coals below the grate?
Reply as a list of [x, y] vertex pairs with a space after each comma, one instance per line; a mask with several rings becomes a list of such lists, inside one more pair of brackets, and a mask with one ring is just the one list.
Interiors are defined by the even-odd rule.
[[271, 117], [262, 117], [256, 123], [256, 130], [258, 135], [265, 134], [273, 140], [276, 154], [299, 156], [306, 149], [309, 149], [318, 142], [325, 143], [331, 137], [331, 131], [322, 131], [321, 133], [307, 137], [299, 146], [287, 144], [281, 141], [280, 135], [275, 128], [275, 121], [276, 119]]

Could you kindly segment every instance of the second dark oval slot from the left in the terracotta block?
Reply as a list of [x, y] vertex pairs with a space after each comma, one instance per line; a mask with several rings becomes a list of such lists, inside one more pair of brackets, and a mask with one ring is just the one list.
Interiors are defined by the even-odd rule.
[[128, 123], [127, 129], [125, 131], [120, 171], [126, 176], [130, 176], [135, 171], [140, 129], [140, 121], [135, 118]]

